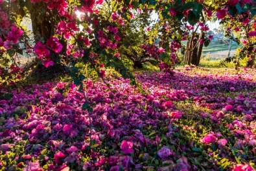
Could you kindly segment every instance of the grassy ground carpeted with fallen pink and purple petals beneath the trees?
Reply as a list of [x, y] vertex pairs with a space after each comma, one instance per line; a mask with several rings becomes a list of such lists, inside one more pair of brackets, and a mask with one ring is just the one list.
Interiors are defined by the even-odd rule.
[[256, 74], [235, 73], [137, 73], [145, 92], [111, 77], [84, 94], [2, 90], [14, 96], [0, 100], [0, 170], [255, 170]]

